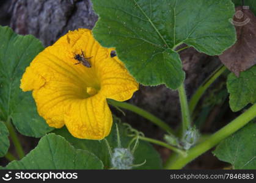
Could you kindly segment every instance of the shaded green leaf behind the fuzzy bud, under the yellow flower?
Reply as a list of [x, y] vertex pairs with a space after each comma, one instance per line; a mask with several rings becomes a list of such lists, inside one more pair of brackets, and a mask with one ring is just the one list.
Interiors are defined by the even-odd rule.
[[[122, 123], [119, 123], [119, 132], [122, 141], [122, 147], [127, 148], [131, 137], [126, 136], [125, 126], [123, 126]], [[105, 168], [111, 167], [109, 151], [104, 140], [96, 141], [78, 139], [72, 137], [65, 127], [62, 127], [62, 129], [56, 129], [54, 133], [65, 137], [68, 142], [71, 143], [71, 145], [75, 146], [75, 148], [86, 149], [87, 151], [93, 152], [93, 154], [102, 160]], [[115, 124], [112, 127], [111, 134], [106, 139], [108, 140], [112, 149], [117, 147], [117, 131], [115, 129]], [[147, 162], [141, 167], [137, 167], [136, 169], [161, 168], [161, 158], [158, 152], [156, 152], [149, 143], [139, 142], [139, 146], [134, 153], [134, 164], [142, 163], [144, 160], [147, 160]]]

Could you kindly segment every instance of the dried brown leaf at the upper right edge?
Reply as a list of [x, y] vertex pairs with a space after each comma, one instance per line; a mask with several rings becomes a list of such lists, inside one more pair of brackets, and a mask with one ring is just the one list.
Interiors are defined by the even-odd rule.
[[219, 56], [236, 76], [256, 64], [256, 16], [246, 7], [236, 7], [232, 23], [236, 28], [237, 41]]

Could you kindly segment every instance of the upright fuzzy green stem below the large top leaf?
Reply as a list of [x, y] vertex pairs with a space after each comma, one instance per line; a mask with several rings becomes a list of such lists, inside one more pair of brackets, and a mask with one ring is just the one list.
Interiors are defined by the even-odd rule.
[[181, 115], [182, 115], [182, 132], [184, 132], [191, 127], [191, 119], [188, 108], [188, 99], [186, 97], [186, 91], [184, 84], [182, 84], [178, 88], [178, 96], [180, 98], [180, 107], [181, 107]]

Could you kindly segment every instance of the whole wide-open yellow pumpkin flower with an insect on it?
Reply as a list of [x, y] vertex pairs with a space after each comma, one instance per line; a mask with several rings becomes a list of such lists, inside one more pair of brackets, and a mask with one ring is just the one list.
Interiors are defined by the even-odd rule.
[[111, 57], [112, 50], [103, 48], [91, 30], [70, 31], [35, 57], [20, 87], [32, 90], [37, 111], [49, 126], [65, 124], [74, 137], [100, 140], [112, 126], [106, 98], [125, 101], [138, 89], [123, 63]]

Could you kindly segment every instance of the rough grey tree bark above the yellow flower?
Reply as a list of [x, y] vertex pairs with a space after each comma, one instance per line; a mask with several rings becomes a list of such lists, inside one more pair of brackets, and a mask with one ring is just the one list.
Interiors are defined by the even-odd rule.
[[45, 46], [68, 30], [92, 29], [98, 20], [87, 0], [12, 0], [12, 6], [12, 29], [18, 34], [35, 35]]

